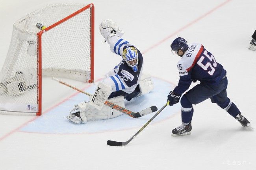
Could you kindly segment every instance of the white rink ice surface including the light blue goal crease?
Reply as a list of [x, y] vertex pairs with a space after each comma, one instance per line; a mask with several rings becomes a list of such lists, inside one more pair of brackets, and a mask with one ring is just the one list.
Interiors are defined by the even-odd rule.
[[[203, 44], [223, 64], [228, 97], [256, 127], [256, 51], [248, 49], [256, 29], [255, 0], [0, 0], [0, 68], [13, 23], [60, 2], [95, 4], [96, 82], [120, 61], [98, 31], [103, 19], [115, 20], [126, 32], [124, 38], [143, 53], [144, 72], [153, 76], [156, 88], [126, 102], [127, 108], [137, 112], [165, 104], [179, 78], [179, 57], [171, 53], [170, 44], [183, 37]], [[94, 88], [63, 80], [88, 92]], [[191, 135], [171, 136], [171, 130], [181, 124], [180, 104], [176, 104], [163, 110], [127, 146], [113, 147], [106, 141], [127, 141], [154, 113], [75, 125], [64, 116], [72, 104], [86, 100], [85, 95], [50, 78], [43, 79], [43, 85], [42, 116], [0, 115], [0, 170], [256, 169], [255, 131], [242, 127], [210, 100], [194, 106]]]

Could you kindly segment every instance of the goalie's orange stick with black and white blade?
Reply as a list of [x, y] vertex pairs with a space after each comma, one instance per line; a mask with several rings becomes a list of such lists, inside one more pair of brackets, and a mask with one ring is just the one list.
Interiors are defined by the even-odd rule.
[[[78, 88], [75, 88], [74, 86], [71, 86], [71, 85], [69, 85], [69, 84], [67, 84], [67, 83], [65, 83], [65, 82], [63, 82], [61, 80], [58, 80], [58, 79], [54, 78], [54, 77], [52, 77], [52, 79], [57, 81], [57, 82], [59, 82], [59, 83], [61, 83], [61, 84], [64, 84], [65, 86], [68, 86], [68, 87], [70, 87], [70, 88], [72, 88], [72, 89], [74, 89], [76, 91], [79, 91], [79, 92], [81, 92], [83, 94], [86, 94], [88, 96], [92, 96], [90, 93], [87, 93], [87, 92], [82, 91], [82, 90], [80, 90]], [[126, 109], [126, 108], [123, 108], [122, 106], [119, 106], [119, 105], [117, 105], [115, 103], [112, 103], [110, 101], [106, 101], [104, 104], [106, 106], [110, 107], [110, 108], [113, 108], [113, 109], [115, 109], [115, 110], [117, 110], [117, 111], [119, 111], [121, 113], [124, 113], [124, 114], [126, 114], [126, 115], [128, 115], [130, 117], [133, 117], [133, 118], [141, 117], [141, 116], [144, 116], [144, 115], [156, 112], [158, 110], [156, 106], [151, 106], [149, 108], [141, 110], [140, 112], [135, 113], [135, 112], [132, 112], [132, 111]]]

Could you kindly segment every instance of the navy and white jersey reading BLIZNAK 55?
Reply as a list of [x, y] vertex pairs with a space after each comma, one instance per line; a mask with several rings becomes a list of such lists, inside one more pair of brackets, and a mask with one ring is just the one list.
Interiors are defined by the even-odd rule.
[[226, 77], [223, 66], [216, 62], [214, 56], [204, 46], [197, 43], [189, 44], [189, 48], [177, 63], [177, 68], [180, 80], [173, 90], [177, 95], [184, 93], [194, 80], [218, 85]]

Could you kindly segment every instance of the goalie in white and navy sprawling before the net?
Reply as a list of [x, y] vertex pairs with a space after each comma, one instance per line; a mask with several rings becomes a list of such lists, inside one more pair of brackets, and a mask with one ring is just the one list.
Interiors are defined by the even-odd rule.
[[77, 124], [91, 120], [102, 120], [117, 117], [122, 113], [104, 106], [108, 99], [124, 107], [127, 101], [153, 90], [150, 75], [142, 75], [143, 57], [141, 52], [130, 42], [122, 39], [122, 32], [110, 19], [100, 24], [100, 33], [108, 42], [113, 53], [122, 57], [121, 62], [106, 74], [98, 84], [89, 102], [82, 102], [74, 107], [67, 119]]

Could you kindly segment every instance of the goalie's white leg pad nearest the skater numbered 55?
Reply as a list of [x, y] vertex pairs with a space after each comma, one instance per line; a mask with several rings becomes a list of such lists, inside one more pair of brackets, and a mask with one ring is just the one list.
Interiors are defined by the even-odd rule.
[[150, 75], [143, 74], [139, 80], [139, 90], [141, 91], [138, 96], [145, 95], [154, 89], [153, 82]]

